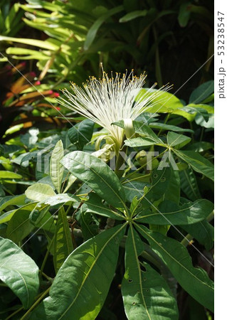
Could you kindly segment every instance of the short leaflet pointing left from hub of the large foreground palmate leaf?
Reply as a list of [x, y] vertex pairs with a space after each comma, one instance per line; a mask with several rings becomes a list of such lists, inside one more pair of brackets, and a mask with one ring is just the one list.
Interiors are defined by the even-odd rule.
[[102, 204], [102, 199], [95, 193], [90, 193], [89, 200], [85, 202], [83, 208], [85, 208], [86, 212], [88, 213], [103, 215], [107, 218], [112, 218], [116, 220], [124, 220], [125, 218], [124, 215], [122, 215], [122, 213], [117, 213], [108, 208], [107, 206], [104, 206]]

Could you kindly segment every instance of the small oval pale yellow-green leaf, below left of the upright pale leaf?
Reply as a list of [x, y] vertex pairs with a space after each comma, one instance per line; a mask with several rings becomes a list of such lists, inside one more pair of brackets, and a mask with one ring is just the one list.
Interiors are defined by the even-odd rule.
[[45, 201], [51, 196], [56, 196], [56, 193], [46, 183], [35, 183], [27, 188], [25, 195], [28, 199], [34, 201]]

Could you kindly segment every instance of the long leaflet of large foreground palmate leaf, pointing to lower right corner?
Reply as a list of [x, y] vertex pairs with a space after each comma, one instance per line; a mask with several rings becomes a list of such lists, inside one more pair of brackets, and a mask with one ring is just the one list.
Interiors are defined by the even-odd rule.
[[181, 287], [200, 304], [213, 311], [213, 281], [203, 269], [193, 267], [186, 247], [161, 233], [149, 231], [142, 225], [136, 225], [136, 228], [147, 239], [152, 250], [162, 258]]

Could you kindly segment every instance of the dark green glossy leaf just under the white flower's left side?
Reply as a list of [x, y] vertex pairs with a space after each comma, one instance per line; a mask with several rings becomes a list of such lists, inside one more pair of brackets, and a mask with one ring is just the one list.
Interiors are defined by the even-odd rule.
[[83, 150], [85, 144], [93, 137], [94, 122], [85, 119], [68, 130], [68, 138], [75, 144], [78, 150]]

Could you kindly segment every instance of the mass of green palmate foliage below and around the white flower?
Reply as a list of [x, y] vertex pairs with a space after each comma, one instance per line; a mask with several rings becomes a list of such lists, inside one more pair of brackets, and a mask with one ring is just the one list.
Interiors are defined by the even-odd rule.
[[[77, 114], [67, 131], [37, 133], [34, 153], [13, 151], [23, 136], [1, 145], [6, 319], [122, 319], [120, 293], [127, 319], [186, 319], [182, 292], [194, 314], [212, 315], [213, 82], [187, 105], [146, 88], [135, 100], [144, 95], [155, 105], [132, 121], [121, 174], [95, 151], [102, 129]], [[127, 132], [124, 119], [112, 126]]]

